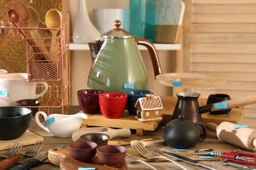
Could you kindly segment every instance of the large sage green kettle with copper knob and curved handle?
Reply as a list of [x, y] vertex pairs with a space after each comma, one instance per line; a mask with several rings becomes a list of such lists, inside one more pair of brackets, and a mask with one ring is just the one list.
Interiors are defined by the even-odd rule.
[[119, 28], [119, 20], [114, 25], [116, 28], [101, 36], [104, 42], [93, 61], [88, 88], [117, 93], [129, 89], [148, 89], [146, 69], [137, 44], [148, 49], [155, 76], [161, 74], [156, 48], [150, 41], [135, 39], [134, 35]]

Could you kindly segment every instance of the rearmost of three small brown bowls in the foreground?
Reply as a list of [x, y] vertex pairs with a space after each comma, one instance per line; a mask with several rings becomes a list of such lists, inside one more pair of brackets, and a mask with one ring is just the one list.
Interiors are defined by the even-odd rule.
[[109, 139], [110, 139], [110, 136], [104, 133], [87, 133], [87, 134], [81, 135], [80, 137], [81, 141], [94, 142], [98, 144], [98, 147], [108, 145]]

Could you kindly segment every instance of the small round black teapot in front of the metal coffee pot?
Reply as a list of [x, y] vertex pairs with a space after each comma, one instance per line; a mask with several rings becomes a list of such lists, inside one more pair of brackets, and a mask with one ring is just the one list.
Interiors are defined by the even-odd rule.
[[[200, 135], [198, 126], [203, 129], [203, 135]], [[163, 141], [173, 148], [191, 148], [206, 137], [206, 127], [202, 123], [193, 124], [192, 121], [185, 120], [182, 115], [163, 126]]]

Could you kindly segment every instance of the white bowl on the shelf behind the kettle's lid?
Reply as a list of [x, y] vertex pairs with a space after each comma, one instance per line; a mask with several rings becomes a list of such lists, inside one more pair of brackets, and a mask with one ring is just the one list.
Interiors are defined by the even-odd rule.
[[93, 24], [101, 34], [115, 28], [115, 20], [120, 20], [120, 27], [129, 31], [129, 9], [93, 9]]

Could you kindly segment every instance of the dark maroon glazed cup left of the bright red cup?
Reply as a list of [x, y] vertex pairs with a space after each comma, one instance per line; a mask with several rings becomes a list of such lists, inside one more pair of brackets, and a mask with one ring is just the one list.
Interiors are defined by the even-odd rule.
[[100, 112], [98, 104], [98, 94], [103, 93], [103, 90], [83, 89], [77, 91], [77, 99], [80, 109], [87, 114], [96, 114]]

